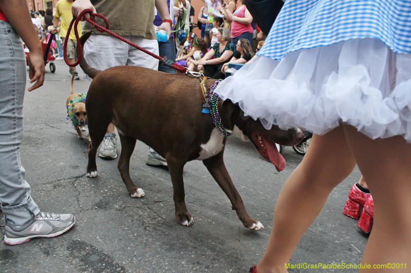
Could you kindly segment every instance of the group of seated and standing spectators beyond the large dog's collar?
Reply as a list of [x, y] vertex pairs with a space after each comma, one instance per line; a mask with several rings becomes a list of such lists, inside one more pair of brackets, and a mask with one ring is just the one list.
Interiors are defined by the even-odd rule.
[[[184, 48], [186, 54], [179, 56], [177, 61], [190, 71], [203, 73], [210, 78], [224, 79], [230, 62], [245, 64], [254, 56], [258, 43], [261, 42], [260, 47], [264, 43], [263, 32], [255, 24], [242, 0], [203, 2], [206, 6], [198, 13], [197, 26], [201, 29], [201, 38], [207, 46], [207, 52], [192, 46], [192, 38], [196, 37], [192, 34]], [[192, 50], [201, 55], [195, 57]]]

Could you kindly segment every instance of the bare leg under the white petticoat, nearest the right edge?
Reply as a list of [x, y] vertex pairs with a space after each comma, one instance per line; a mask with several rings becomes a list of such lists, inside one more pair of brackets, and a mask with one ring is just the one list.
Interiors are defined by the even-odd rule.
[[[362, 264], [411, 265], [411, 145], [403, 137], [371, 140], [344, 125], [347, 142], [368, 183], [375, 212]], [[391, 272], [393, 269], [378, 269]], [[376, 272], [362, 269], [360, 272]]]

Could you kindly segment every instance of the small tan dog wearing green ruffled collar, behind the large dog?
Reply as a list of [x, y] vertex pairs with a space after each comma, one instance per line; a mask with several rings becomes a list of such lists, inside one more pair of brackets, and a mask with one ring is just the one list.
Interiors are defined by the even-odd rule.
[[79, 134], [80, 139], [84, 139], [81, 131], [86, 131], [84, 126], [87, 125], [87, 112], [86, 112], [86, 95], [74, 93], [73, 89], [73, 79], [74, 75], [71, 76], [71, 90], [70, 96], [67, 98], [67, 119], [71, 120]]

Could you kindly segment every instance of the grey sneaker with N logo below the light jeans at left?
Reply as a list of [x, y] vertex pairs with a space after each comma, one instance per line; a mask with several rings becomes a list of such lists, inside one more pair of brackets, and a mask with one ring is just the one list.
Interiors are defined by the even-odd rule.
[[22, 244], [36, 237], [51, 238], [69, 230], [76, 222], [72, 214], [39, 213], [21, 227], [15, 227], [5, 217], [4, 242], [10, 245]]

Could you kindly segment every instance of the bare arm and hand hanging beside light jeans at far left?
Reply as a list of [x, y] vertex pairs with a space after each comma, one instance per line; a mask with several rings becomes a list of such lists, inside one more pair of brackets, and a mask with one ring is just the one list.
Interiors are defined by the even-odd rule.
[[27, 7], [25, 0], [0, 1], [0, 9], [30, 50], [28, 56], [29, 78], [30, 83], [34, 81], [35, 83], [28, 90], [33, 91], [43, 85], [46, 70], [39, 36], [31, 22], [28, 10], [23, 9], [22, 11], [22, 7]]

